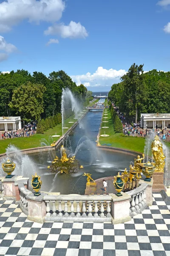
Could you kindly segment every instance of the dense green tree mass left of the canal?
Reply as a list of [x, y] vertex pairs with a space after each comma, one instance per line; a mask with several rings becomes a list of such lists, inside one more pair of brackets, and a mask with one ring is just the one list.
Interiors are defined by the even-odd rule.
[[62, 70], [48, 77], [26, 70], [0, 73], [0, 116], [20, 115], [25, 121], [54, 116], [61, 110], [62, 88], [69, 88], [81, 104], [91, 98], [83, 84], [77, 86]]

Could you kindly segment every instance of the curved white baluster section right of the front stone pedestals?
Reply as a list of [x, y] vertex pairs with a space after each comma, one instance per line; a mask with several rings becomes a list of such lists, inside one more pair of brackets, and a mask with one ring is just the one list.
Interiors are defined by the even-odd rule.
[[142, 183], [141, 186], [133, 189], [129, 192], [126, 192], [127, 195], [131, 196], [130, 199], [130, 216], [137, 215], [141, 213], [147, 207], [146, 201], [146, 189], [148, 184]]

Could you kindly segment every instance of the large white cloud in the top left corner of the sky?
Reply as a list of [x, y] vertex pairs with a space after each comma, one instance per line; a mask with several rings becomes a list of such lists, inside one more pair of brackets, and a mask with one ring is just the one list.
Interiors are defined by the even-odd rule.
[[62, 0], [6, 0], [0, 3], [0, 32], [8, 32], [22, 20], [56, 22], [62, 17]]

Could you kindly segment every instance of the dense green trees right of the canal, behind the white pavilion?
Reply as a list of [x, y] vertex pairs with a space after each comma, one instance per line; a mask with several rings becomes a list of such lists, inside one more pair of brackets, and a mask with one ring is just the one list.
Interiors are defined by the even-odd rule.
[[169, 113], [170, 72], [150, 70], [144, 73], [144, 65], [131, 65], [113, 84], [108, 99], [119, 107], [129, 121], [136, 122], [140, 113]]

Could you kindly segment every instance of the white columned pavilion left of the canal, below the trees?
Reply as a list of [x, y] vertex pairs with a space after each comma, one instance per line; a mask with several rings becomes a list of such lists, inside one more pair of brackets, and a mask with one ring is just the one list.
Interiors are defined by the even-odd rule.
[[16, 131], [21, 128], [20, 116], [0, 116], [0, 131]]

